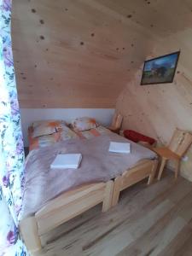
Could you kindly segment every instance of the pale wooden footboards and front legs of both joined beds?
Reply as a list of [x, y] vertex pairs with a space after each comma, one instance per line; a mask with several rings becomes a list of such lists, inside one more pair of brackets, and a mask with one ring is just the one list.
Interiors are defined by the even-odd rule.
[[142, 160], [137, 166], [125, 171], [122, 176], [107, 183], [92, 183], [78, 189], [65, 192], [49, 201], [33, 216], [20, 221], [20, 234], [32, 255], [40, 253], [42, 245], [40, 236], [60, 224], [74, 218], [102, 203], [102, 212], [107, 212], [119, 201], [119, 193], [123, 189], [148, 177], [148, 184], [154, 180], [157, 160]]

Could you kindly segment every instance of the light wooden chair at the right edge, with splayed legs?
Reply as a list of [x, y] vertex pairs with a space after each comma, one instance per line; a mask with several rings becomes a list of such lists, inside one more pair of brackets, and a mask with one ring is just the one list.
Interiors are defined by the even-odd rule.
[[162, 175], [167, 160], [176, 161], [175, 178], [178, 176], [180, 162], [183, 155], [187, 152], [192, 143], [192, 134], [189, 131], [176, 129], [173, 133], [171, 142], [164, 148], [153, 148], [154, 152], [160, 155], [161, 164], [158, 180]]

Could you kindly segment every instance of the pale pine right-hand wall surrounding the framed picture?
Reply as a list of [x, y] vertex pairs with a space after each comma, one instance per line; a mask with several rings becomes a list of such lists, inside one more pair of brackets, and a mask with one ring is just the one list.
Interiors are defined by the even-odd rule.
[[[183, 31], [178, 30], [162, 39], [160, 44], [154, 44], [148, 59], [181, 49], [174, 83], [141, 86], [141, 66], [117, 100], [117, 111], [124, 116], [123, 128], [154, 137], [159, 145], [166, 146], [176, 128], [192, 131], [191, 32], [191, 28], [186, 26]], [[182, 161], [181, 174], [192, 181], [192, 147], [187, 155], [189, 160]], [[168, 165], [174, 168], [170, 163]]]

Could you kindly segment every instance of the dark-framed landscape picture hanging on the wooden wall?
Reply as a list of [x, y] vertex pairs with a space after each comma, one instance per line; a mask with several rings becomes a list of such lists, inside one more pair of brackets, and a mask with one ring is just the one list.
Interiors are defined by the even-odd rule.
[[172, 83], [180, 51], [144, 62], [141, 85]]

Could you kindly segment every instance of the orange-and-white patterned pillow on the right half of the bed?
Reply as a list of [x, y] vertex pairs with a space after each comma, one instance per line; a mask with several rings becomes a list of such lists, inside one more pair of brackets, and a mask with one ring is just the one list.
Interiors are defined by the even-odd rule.
[[86, 131], [98, 126], [96, 119], [91, 119], [89, 117], [74, 119], [71, 125], [74, 131]]

